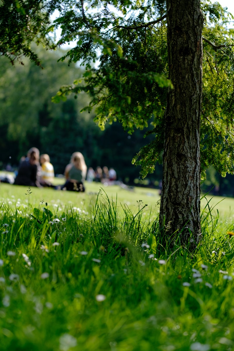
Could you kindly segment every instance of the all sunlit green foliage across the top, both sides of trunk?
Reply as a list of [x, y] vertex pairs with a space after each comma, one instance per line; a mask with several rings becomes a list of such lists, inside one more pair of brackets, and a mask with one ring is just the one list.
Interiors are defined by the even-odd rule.
[[[201, 118], [201, 165], [213, 165], [223, 176], [233, 173], [233, 19], [218, 2], [201, 3], [203, 29], [203, 108]], [[53, 26], [49, 15], [59, 17]], [[141, 175], [153, 172], [164, 142], [164, 111], [168, 78], [167, 19], [163, 0], [88, 0], [86, 2], [27, 0], [0, 2], [0, 52], [12, 62], [29, 56], [32, 40], [49, 46], [49, 33], [61, 28], [58, 45], [74, 41], [60, 60], [78, 62], [83, 77], [64, 85], [55, 95], [58, 102], [81, 91], [90, 97], [83, 110], [95, 107], [95, 121], [103, 129], [117, 119], [131, 134], [151, 124], [155, 138], [141, 148], [133, 162]], [[147, 139], [147, 135], [146, 135]], [[147, 143], [147, 141], [146, 141]]]

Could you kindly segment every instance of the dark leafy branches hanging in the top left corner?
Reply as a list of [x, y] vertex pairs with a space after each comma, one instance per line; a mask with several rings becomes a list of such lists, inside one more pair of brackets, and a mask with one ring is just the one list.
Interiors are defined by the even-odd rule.
[[0, 0], [0, 56], [6, 56], [12, 64], [23, 64], [25, 56], [40, 65], [31, 43], [55, 47], [49, 37], [53, 27], [46, 6], [46, 1], [40, 0]]

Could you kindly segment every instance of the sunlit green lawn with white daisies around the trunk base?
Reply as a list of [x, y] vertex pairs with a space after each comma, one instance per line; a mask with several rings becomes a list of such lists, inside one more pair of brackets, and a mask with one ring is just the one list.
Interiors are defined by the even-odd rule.
[[233, 350], [234, 200], [202, 199], [193, 254], [158, 244], [159, 200], [0, 184], [1, 350]]

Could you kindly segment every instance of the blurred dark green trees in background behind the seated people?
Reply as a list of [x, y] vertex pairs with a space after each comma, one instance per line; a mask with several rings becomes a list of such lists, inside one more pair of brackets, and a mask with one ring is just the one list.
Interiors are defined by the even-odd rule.
[[[119, 122], [107, 124], [101, 131], [93, 121], [95, 111], [80, 113], [89, 102], [85, 93], [59, 104], [51, 102], [60, 86], [81, 77], [82, 71], [75, 64], [68, 67], [66, 62], [57, 62], [62, 50], [51, 52], [35, 47], [34, 51], [43, 69], [29, 60], [11, 66], [1, 57], [0, 167], [17, 167], [20, 158], [35, 146], [40, 153], [49, 154], [55, 174], [60, 174], [71, 154], [80, 151], [88, 167], [114, 167], [118, 179], [133, 184], [139, 178], [140, 167], [132, 165], [132, 158], [154, 137], [144, 139], [145, 131], [140, 130], [129, 135]], [[149, 179], [158, 184], [161, 177], [162, 167], [158, 165]]]

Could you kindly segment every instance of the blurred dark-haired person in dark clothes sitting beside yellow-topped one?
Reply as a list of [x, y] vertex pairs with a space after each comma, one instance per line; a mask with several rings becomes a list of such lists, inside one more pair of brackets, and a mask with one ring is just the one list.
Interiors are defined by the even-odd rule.
[[26, 186], [40, 187], [40, 163], [39, 163], [39, 150], [36, 147], [31, 147], [28, 150], [25, 160], [20, 162], [17, 176], [15, 177], [14, 184]]

